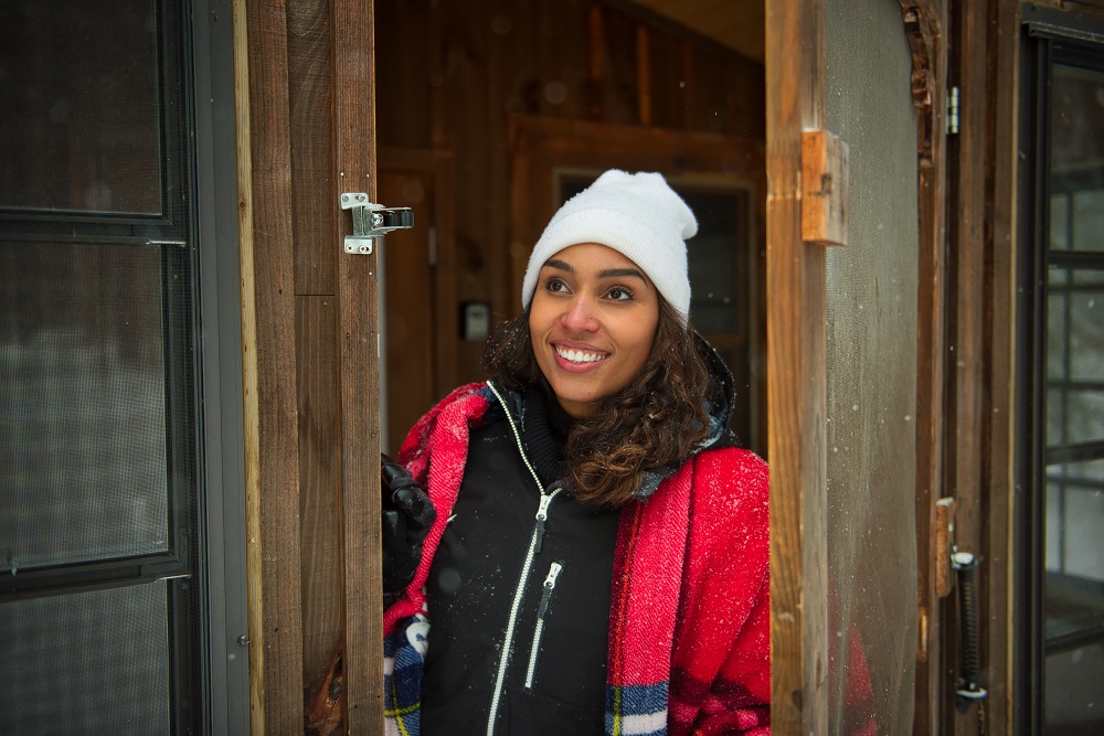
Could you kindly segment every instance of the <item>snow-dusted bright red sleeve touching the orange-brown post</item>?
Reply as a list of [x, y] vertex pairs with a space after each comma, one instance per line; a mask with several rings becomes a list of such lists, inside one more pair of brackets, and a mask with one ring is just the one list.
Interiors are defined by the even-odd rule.
[[767, 467], [726, 449], [703, 454], [694, 473], [669, 730], [769, 734]]

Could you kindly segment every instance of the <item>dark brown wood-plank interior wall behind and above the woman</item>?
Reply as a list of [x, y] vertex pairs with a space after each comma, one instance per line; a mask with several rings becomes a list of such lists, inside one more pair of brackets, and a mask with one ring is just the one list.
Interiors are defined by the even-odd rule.
[[484, 377], [482, 343], [457, 335], [460, 305], [488, 301], [492, 321], [520, 309], [509, 273], [511, 118], [765, 140], [763, 66], [627, 2], [380, 0], [376, 89], [381, 150], [452, 154], [456, 225], [438, 239], [455, 249], [456, 317], [436, 334], [457, 343], [455, 373], [438, 377], [449, 386]]

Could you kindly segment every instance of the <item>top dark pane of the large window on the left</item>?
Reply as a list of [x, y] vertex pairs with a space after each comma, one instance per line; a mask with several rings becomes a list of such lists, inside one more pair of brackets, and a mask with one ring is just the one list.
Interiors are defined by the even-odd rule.
[[0, 47], [0, 207], [160, 214], [153, 3], [4, 0]]

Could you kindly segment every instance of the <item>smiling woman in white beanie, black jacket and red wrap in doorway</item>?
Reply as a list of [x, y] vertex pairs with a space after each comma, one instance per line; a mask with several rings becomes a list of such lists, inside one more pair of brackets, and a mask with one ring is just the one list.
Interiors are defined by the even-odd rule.
[[603, 174], [534, 245], [495, 377], [411, 430], [437, 514], [384, 614], [394, 733], [769, 733], [767, 468], [689, 321], [696, 232], [661, 175]]

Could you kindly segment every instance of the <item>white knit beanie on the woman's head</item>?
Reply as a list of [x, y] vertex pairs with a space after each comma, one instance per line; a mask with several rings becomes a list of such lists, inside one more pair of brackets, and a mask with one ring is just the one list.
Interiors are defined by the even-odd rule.
[[521, 306], [529, 307], [544, 262], [567, 246], [598, 243], [644, 269], [682, 317], [690, 316], [686, 241], [698, 232], [693, 212], [658, 173], [612, 169], [552, 215], [529, 256]]

